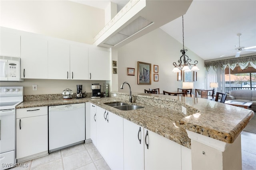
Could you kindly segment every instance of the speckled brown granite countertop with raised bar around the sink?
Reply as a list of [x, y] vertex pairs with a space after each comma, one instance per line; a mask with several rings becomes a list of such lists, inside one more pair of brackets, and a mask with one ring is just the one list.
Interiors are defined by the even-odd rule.
[[[27, 101], [16, 108], [91, 102], [188, 148], [191, 142], [185, 129], [226, 143], [233, 143], [254, 116], [254, 112], [249, 109], [212, 100], [157, 94], [133, 93], [134, 104], [144, 106], [136, 110], [122, 111], [104, 104], [128, 103], [128, 98], [126, 93], [111, 92], [108, 98]], [[186, 107], [186, 115], [181, 112], [182, 106]]]

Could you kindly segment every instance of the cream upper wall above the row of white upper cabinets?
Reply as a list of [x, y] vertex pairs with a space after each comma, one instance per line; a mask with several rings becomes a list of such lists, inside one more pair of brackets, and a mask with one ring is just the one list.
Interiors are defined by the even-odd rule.
[[105, 26], [104, 10], [67, 0], [1, 0], [0, 25], [92, 44]]

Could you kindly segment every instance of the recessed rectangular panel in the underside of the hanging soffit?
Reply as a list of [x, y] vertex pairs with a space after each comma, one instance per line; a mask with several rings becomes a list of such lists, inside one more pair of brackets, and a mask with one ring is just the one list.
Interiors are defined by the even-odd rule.
[[124, 27], [122, 30], [120, 30], [118, 33], [116, 33], [114, 36], [112, 36], [110, 39], [108, 39], [104, 44], [106, 45], [118, 45], [122, 41], [128, 39], [130, 36], [138, 33], [142, 29], [145, 29], [146, 27], [152, 25], [154, 22], [147, 20], [146, 18], [143, 18], [142, 16], [139, 16], [134, 21], [132, 21], [129, 25]]

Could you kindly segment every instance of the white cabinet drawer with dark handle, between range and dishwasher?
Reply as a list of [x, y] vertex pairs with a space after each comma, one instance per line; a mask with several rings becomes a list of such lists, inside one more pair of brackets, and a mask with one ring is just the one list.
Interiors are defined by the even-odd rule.
[[16, 109], [16, 119], [32, 116], [48, 115], [48, 107], [29, 107], [24, 109]]

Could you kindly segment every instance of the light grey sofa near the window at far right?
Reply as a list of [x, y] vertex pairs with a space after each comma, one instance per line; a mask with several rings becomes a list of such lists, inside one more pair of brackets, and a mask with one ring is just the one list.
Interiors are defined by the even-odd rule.
[[232, 90], [226, 100], [235, 100], [243, 102], [252, 102], [250, 109], [256, 112], [256, 90]]

